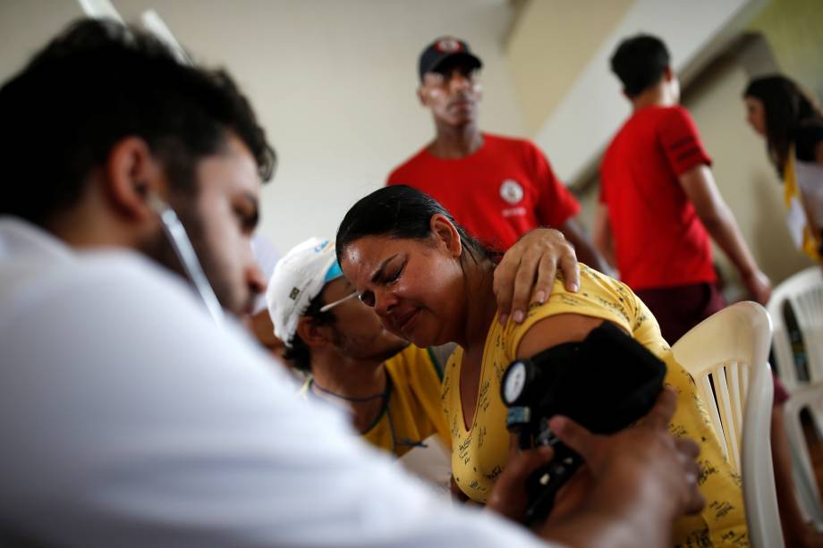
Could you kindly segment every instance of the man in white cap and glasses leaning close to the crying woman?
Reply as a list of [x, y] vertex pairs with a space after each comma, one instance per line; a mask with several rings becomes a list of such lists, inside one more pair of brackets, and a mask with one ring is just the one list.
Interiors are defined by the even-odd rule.
[[431, 434], [448, 443], [434, 352], [388, 333], [356, 297], [334, 242], [310, 238], [275, 266], [268, 310], [285, 358], [310, 373], [305, 390], [349, 408], [357, 431], [398, 457]]

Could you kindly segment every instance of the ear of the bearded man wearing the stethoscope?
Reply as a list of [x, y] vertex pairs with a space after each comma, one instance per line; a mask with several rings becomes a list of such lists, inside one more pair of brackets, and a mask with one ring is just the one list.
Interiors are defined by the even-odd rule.
[[147, 198], [152, 192], [165, 195], [165, 178], [146, 141], [139, 137], [118, 141], [108, 153], [104, 174], [106, 198], [121, 215], [134, 221], [154, 216]]

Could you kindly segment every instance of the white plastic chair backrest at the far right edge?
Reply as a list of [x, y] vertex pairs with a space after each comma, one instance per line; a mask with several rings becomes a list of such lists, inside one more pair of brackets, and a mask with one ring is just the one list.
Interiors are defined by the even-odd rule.
[[[806, 350], [807, 374], [798, 375], [792, 341], [785, 325], [785, 303], [791, 305]], [[823, 274], [810, 266], [778, 285], [768, 301], [775, 328], [777, 375], [791, 392], [800, 384], [823, 381]], [[808, 375], [808, 380], [806, 376]]]

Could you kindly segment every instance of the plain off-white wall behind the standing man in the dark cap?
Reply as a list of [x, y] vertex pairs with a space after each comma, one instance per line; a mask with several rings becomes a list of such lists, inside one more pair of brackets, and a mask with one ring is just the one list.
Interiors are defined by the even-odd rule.
[[[505, 0], [114, 0], [127, 21], [154, 8], [193, 54], [225, 65], [280, 157], [261, 231], [285, 251], [334, 236], [357, 198], [431, 137], [414, 95], [420, 50], [442, 34], [483, 59], [482, 123], [522, 134], [502, 52]], [[81, 14], [70, 0], [0, 2], [0, 79]]]

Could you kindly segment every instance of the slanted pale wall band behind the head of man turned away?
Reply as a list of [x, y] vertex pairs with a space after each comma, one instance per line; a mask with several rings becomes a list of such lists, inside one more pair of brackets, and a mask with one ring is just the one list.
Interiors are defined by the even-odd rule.
[[635, 0], [536, 136], [561, 180], [584, 176], [630, 112], [608, 63], [621, 39], [641, 31], [663, 38], [680, 71], [751, 1]]

